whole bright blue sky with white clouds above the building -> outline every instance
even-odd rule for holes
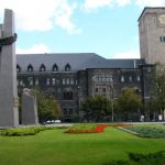
[[[97,53],[139,58],[138,19],[165,0],[0,0],[15,13],[16,53]]]

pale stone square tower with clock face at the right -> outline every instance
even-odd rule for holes
[[[141,58],[165,63],[165,8],[145,8],[139,19]]]

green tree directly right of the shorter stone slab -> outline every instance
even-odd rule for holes
[[[40,88],[35,88],[35,91],[40,122],[61,118],[61,107],[55,98],[45,95],[45,92]]]

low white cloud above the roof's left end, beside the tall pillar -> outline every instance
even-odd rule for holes
[[[37,54],[37,53],[51,53],[51,51],[45,44],[35,44],[30,48],[16,47],[16,54]]]

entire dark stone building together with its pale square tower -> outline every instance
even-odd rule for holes
[[[59,101],[66,121],[81,116],[80,102],[88,96],[116,99],[124,88],[134,88],[145,102],[153,64],[165,62],[165,8],[145,8],[139,28],[141,59],[106,59],[95,53],[18,55],[19,95],[40,86]]]

